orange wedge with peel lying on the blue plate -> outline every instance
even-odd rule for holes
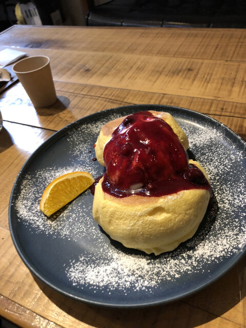
[[[94,182],[88,172],[71,172],[59,176],[45,189],[40,201],[40,210],[50,216],[87,190]]]

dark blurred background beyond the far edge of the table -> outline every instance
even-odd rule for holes
[[[0,0],[0,31],[15,24],[245,28],[246,0]]]

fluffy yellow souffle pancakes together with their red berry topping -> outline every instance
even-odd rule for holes
[[[106,173],[95,186],[92,212],[112,239],[159,255],[195,234],[211,187],[188,147],[169,113],[138,112],[101,129],[95,152]]]

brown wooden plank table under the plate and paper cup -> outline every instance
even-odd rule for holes
[[[246,327],[245,257],[222,278],[175,303],[95,308],[49,289],[26,268],[8,226],[10,192],[30,154],[88,114],[165,104],[207,114],[246,138],[246,31],[236,29],[14,26],[0,50],[48,55],[58,99],[35,109],[22,85],[0,95],[0,315],[22,327]]]

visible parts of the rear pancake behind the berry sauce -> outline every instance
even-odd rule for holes
[[[156,112],[156,111],[149,111],[153,116],[159,117],[167,122],[167,124],[170,125],[170,127],[173,129],[173,132],[176,133],[176,135],[179,138],[179,141],[185,147],[187,150],[189,147],[189,141],[187,138],[187,135],[185,132],[180,128],[176,120],[173,118],[173,116],[166,112]],[[107,142],[111,139],[111,135],[114,132],[114,130],[121,124],[122,121],[124,121],[126,116],[116,118],[112,121],[109,121],[103,128],[101,128],[99,136],[95,143],[95,154],[98,162],[100,165],[105,166],[104,163],[104,147],[107,144]]]

